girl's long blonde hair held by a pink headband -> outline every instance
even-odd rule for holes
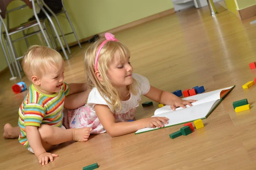
[[[84,53],[84,71],[85,78],[87,80],[88,88],[96,87],[101,96],[112,105],[113,110],[122,108],[120,93],[112,85],[111,80],[108,79],[107,71],[109,64],[113,61],[115,54],[119,56],[121,62],[127,61],[130,57],[130,51],[128,48],[120,42],[108,41],[103,45],[98,59],[98,70],[102,76],[102,81],[97,79],[95,74],[95,58],[98,51],[99,45],[106,40],[105,38],[99,39],[94,42]],[[128,85],[128,90],[132,94],[137,94],[136,90],[137,82],[133,79],[131,85]],[[108,100],[108,99],[109,100]]]

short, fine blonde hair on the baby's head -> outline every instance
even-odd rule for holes
[[[42,77],[49,66],[60,69],[63,61],[61,54],[54,49],[41,45],[32,45],[22,60],[22,68],[26,76],[31,79],[32,76]]]

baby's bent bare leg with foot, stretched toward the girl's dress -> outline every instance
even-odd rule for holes
[[[85,142],[88,140],[92,128],[62,129],[60,127],[41,125],[38,131],[41,136],[42,144],[44,148],[47,149],[50,145],[61,144],[70,140]]]

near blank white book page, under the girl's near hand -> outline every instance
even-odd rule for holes
[[[191,122],[193,120],[205,118],[205,116],[207,116],[207,114],[212,109],[212,107],[217,105],[217,103],[219,101],[220,101],[220,99],[202,103],[201,105],[195,105],[192,107],[188,106],[186,109],[180,109],[177,111],[169,111],[166,113],[158,114],[157,116],[169,118],[169,120],[167,121],[168,124],[164,125],[165,127],[177,125],[177,124],[180,124],[183,122]],[[154,115],[152,117],[156,117],[156,115]],[[142,133],[142,132],[156,130],[156,129],[159,129],[159,128],[158,127],[143,128],[143,129],[137,130],[136,133]]]

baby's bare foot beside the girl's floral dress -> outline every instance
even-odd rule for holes
[[[73,140],[79,142],[87,141],[92,130],[93,129],[91,127],[73,129]]]

